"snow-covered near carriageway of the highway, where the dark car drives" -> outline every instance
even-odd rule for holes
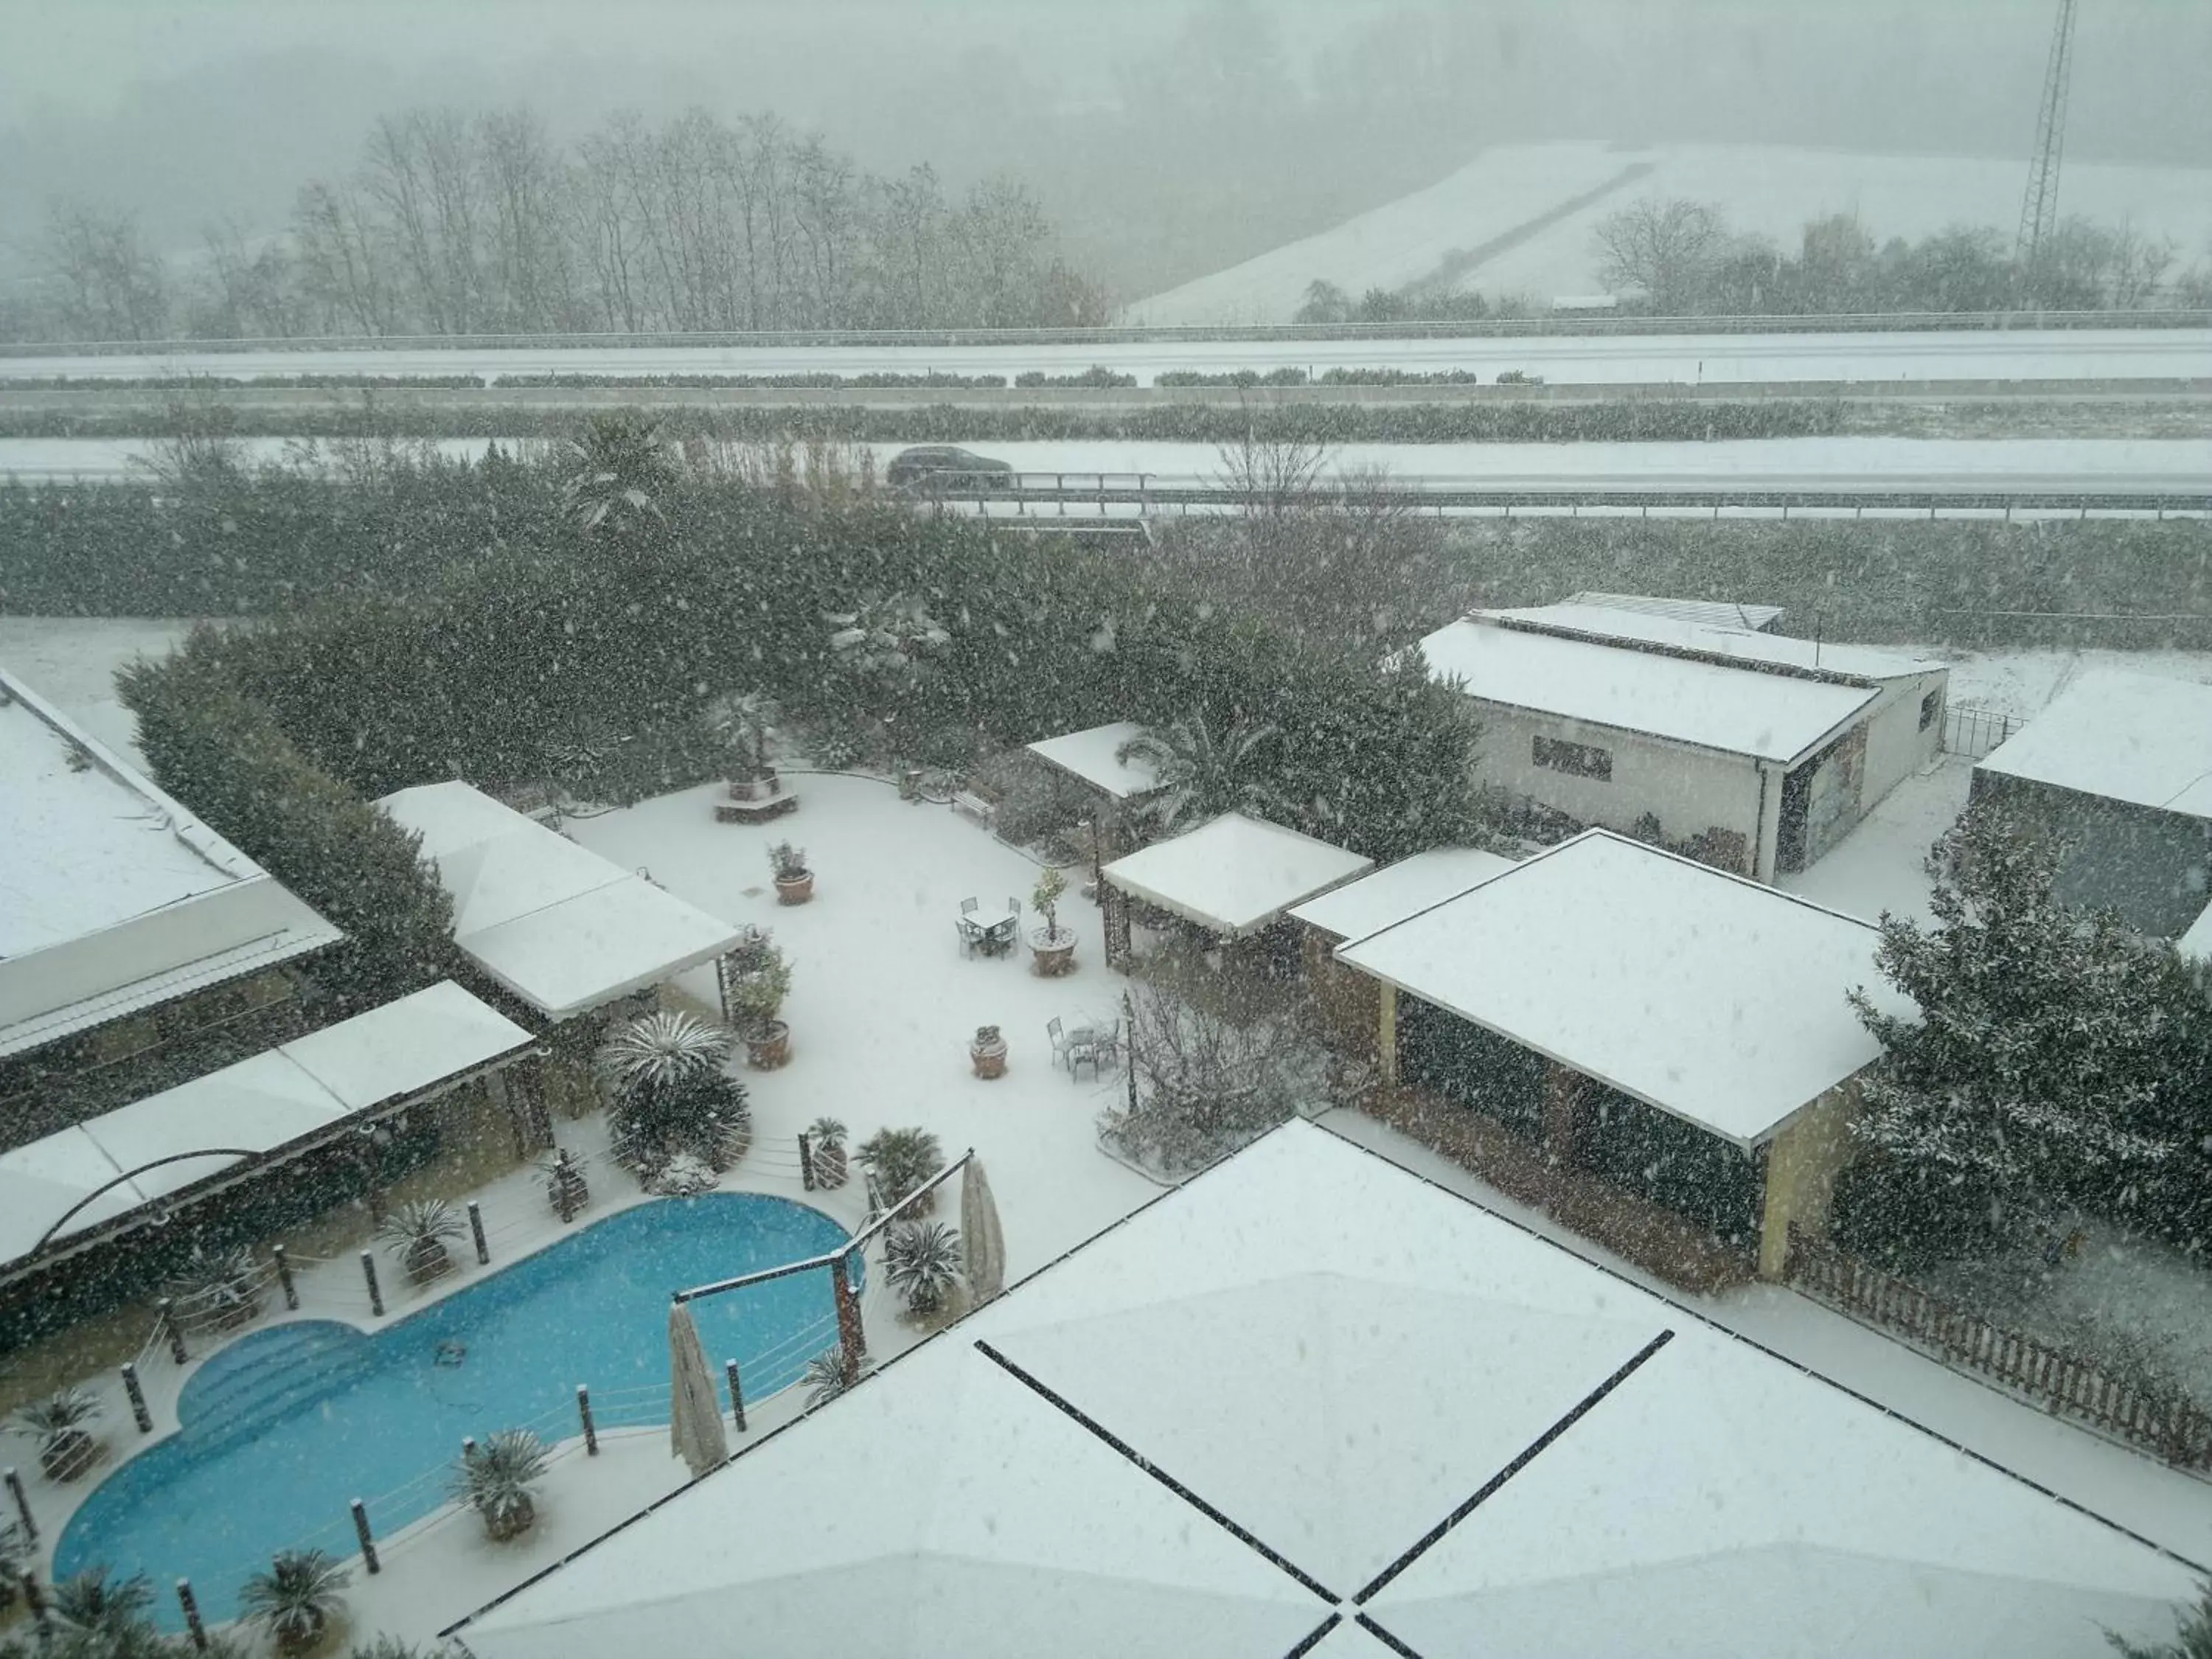
[[[442,438],[445,456],[480,456],[487,438]],[[524,440],[500,440],[509,451]],[[150,438],[7,438],[0,473],[18,478],[150,478]],[[257,462],[292,440],[243,438]],[[869,445],[878,476],[907,445]],[[1144,473],[1159,484],[1214,484],[1221,449],[1186,442],[982,442],[978,453],[1022,473]],[[2081,491],[2203,493],[2205,438],[1743,438],[1723,442],[1336,445],[1336,473],[1387,471],[1400,484],[1500,489],[1825,489],[1825,491]]]

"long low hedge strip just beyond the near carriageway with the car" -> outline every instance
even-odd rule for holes
[[[361,409],[226,409],[239,438],[358,438]],[[1843,403],[1790,398],[1705,403],[1632,398],[1621,403],[1307,403],[1243,409],[1221,403],[1135,407],[668,407],[653,411],[670,438],[761,442],[1232,442],[1248,431],[1325,445],[1433,442],[1708,442],[1723,438],[1832,438],[1849,431]],[[392,438],[562,438],[575,414],[484,405],[425,409],[378,405],[374,431]],[[0,438],[139,438],[164,431],[159,411],[71,414],[0,409]]]

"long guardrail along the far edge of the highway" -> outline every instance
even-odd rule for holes
[[[159,356],[164,352],[456,352],[608,347],[832,347],[832,345],[1148,345],[1159,341],[1451,341],[1566,334],[1876,334],[2081,327],[2212,327],[2208,310],[2170,312],[1845,312],[1832,316],[1542,316],[1433,319],[1416,323],[1110,323],[1102,327],[759,330],[615,334],[316,334],[241,341],[9,341],[4,356]]]

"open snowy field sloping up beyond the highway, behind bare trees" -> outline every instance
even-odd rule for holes
[[[1537,303],[1599,294],[1593,226],[1650,195],[1708,201],[1734,230],[1770,237],[1783,250],[1796,248],[1807,219],[1832,212],[1856,212],[1878,241],[1920,239],[1953,223],[2008,234],[2024,177],[2017,159],[1701,144],[1506,146],[1318,237],[1137,301],[1130,321],[1287,323],[1316,279],[1358,296],[1438,276],[1447,259],[1464,265],[1455,285],[1484,294]],[[2068,164],[2059,210],[2172,237],[2188,265],[2212,239],[2212,168]]]

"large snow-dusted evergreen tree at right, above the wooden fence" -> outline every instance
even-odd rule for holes
[[[2177,1157],[2212,1015],[2172,947],[2053,898],[2057,856],[1989,807],[1936,843],[1936,925],[1885,916],[1876,953],[1920,1018],[1851,995],[1889,1051],[1860,1133],[2000,1206],[2124,1212]]]

